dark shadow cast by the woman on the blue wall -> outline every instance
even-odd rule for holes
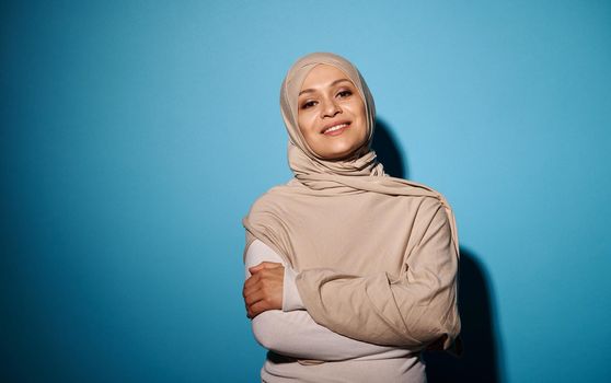
[[[408,178],[408,167],[395,142],[390,127],[378,118],[372,142],[378,160],[388,174]],[[460,256],[459,310],[463,353],[457,358],[448,352],[425,352],[428,382],[500,382],[496,326],[486,274],[472,251],[461,247]]]

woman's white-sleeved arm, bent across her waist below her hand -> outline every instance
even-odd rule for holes
[[[285,266],[284,311],[268,310],[252,321],[255,339],[266,349],[292,358],[324,361],[397,358],[410,353],[406,349],[355,340],[316,324],[307,311],[296,310],[302,305],[295,286],[295,276],[291,276],[295,271],[269,246],[258,240],[246,251],[246,279],[251,277],[249,268],[262,262],[280,263]]]

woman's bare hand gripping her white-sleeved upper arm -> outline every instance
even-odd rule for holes
[[[252,320],[267,310],[283,309],[285,267],[275,262],[262,262],[249,268],[251,277],[244,282],[242,295],[247,316]]]

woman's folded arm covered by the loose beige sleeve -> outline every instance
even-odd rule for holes
[[[297,276],[303,304],[316,323],[378,345],[452,345],[460,332],[458,254],[443,207],[429,202],[423,208],[419,213],[433,219],[401,275],[354,276],[315,268]]]

